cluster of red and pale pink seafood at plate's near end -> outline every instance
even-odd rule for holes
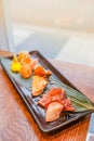
[[[66,97],[66,91],[56,87],[45,93],[38,104],[45,108],[46,121],[56,120],[61,116],[62,111],[75,111],[70,99]]]

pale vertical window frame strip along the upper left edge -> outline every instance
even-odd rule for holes
[[[14,51],[9,1],[0,0],[0,49]]]

